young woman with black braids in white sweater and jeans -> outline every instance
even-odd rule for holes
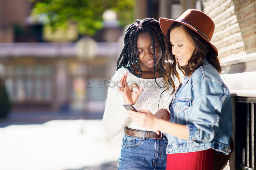
[[[157,20],[136,20],[127,29],[124,48],[109,84],[103,116],[103,128],[109,137],[121,131],[125,133],[119,169],[166,167],[165,135],[139,126],[122,106],[124,103],[132,104],[138,110],[146,109],[153,113],[168,108],[172,95],[166,91],[162,77],[164,50],[164,35]],[[156,113],[155,116],[169,119],[169,113]]]

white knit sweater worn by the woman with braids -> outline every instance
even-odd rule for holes
[[[169,91],[167,91],[166,88],[159,88],[155,82],[155,79],[138,78],[131,74],[126,68],[122,67],[118,69],[109,84],[105,111],[102,121],[106,135],[111,138],[116,136],[120,131],[123,131],[125,125],[132,129],[153,131],[153,129],[141,128],[128,116],[128,111],[122,106],[124,104],[124,98],[123,95],[118,91],[118,86],[119,81],[125,74],[125,72],[128,72],[128,84],[132,84],[133,82],[135,82],[138,84],[139,87],[143,87],[143,92],[140,94],[138,100],[133,105],[136,110],[149,110],[153,114],[155,114],[155,112],[161,108],[166,108],[167,110],[169,110],[169,102],[173,97],[173,95],[169,95],[172,92],[172,87],[169,89]],[[164,87],[162,77],[157,78],[156,81],[160,87]],[[177,80],[175,83],[178,83]],[[135,91],[136,88],[134,88],[133,90]]]

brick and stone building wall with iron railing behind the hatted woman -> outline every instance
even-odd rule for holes
[[[235,150],[225,169],[255,169],[256,1],[206,0],[202,10],[215,23],[211,42],[232,94]]]

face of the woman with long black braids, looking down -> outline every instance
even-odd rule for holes
[[[158,38],[154,32],[155,41],[155,54],[156,54],[156,70],[159,69],[159,60],[162,56],[162,49]],[[153,45],[152,39],[148,32],[143,32],[138,35],[137,39],[137,51],[138,51],[138,59],[140,63],[140,67],[142,71],[153,71],[154,60],[153,60]]]

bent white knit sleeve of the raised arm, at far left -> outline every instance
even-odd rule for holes
[[[124,104],[123,96],[118,91],[119,81],[125,72],[127,70],[124,68],[118,69],[108,87],[102,125],[106,135],[111,138],[124,129],[129,119],[127,110],[122,106]]]

